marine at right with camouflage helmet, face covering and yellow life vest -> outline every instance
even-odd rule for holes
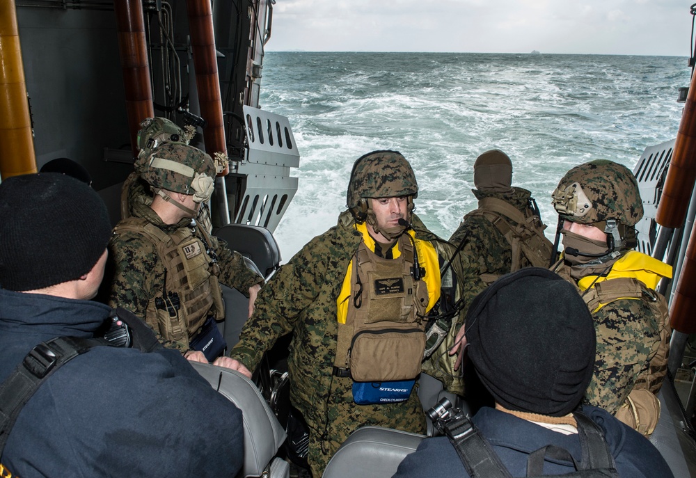
[[[665,298],[655,289],[661,278],[672,277],[672,267],[632,250],[643,208],[638,183],[625,166],[597,160],[572,168],[553,192],[553,206],[563,221],[565,249],[552,269],[578,287],[596,328],[596,363],[585,401],[615,414],[631,406],[629,394],[660,389],[671,330]],[[646,423],[628,424],[651,433]]]

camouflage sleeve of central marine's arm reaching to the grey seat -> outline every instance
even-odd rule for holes
[[[322,288],[331,287],[338,274],[345,275],[348,260],[331,257],[331,241],[315,237],[287,264],[278,269],[271,280],[261,288],[254,313],[244,324],[239,342],[230,356],[255,370],[265,351],[269,350],[286,333],[289,333],[302,317],[309,316],[306,308],[320,309],[321,320],[334,320],[335,296],[322,294]],[[341,278],[342,280],[342,278]],[[315,313],[311,314],[315,317]],[[307,317],[307,321],[310,318]]]

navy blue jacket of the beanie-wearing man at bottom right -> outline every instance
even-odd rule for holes
[[[672,477],[670,467],[658,449],[637,431],[626,427],[601,408],[583,406],[583,411],[603,429],[609,450],[621,477]],[[567,449],[580,461],[577,435],[564,435],[493,408],[481,408],[472,421],[493,445],[513,477],[527,476],[527,459],[531,452],[546,445]],[[560,475],[574,471],[569,462],[546,461],[544,473]],[[406,456],[395,478],[468,477],[450,440],[440,436],[422,440],[416,452]]]

